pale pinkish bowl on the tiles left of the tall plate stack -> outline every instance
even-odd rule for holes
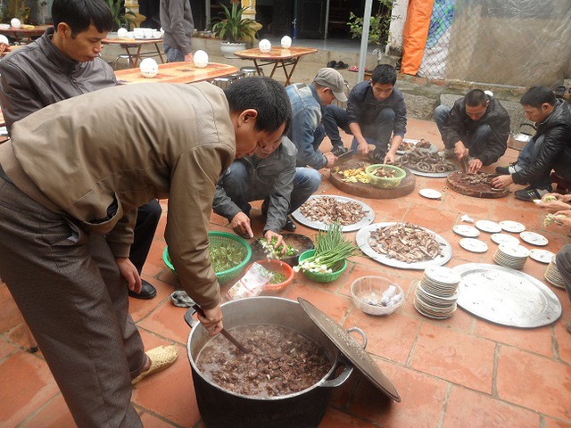
[[[404,302],[398,284],[383,276],[361,276],[351,284],[351,297],[357,308],[369,315],[389,315]]]

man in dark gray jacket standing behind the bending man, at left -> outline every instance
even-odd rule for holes
[[[103,0],[54,0],[52,17],[53,29],[0,62],[0,103],[8,130],[46,105],[117,85],[112,68],[99,58],[101,41],[113,25],[109,6]],[[156,200],[139,207],[129,255],[139,274],[160,218]],[[156,289],[142,281],[141,292],[129,295],[152,299]]]

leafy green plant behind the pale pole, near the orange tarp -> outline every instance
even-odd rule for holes
[[[393,0],[379,0],[378,11],[371,16],[368,29],[368,44],[375,45],[373,54],[377,55],[377,64],[381,63],[386,42],[389,38],[389,27],[391,21],[398,17],[392,17]],[[363,35],[363,18],[358,17],[353,12],[349,14],[349,31],[352,38],[362,37]]]

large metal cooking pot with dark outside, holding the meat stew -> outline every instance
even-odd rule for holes
[[[240,325],[273,324],[306,334],[325,350],[331,368],[319,383],[304,391],[285,396],[259,399],[223,390],[206,379],[196,367],[198,353],[210,337],[203,325],[194,324],[188,336],[186,350],[192,368],[196,401],[204,424],[208,428],[318,426],[327,410],[332,388],[343,384],[353,369],[353,366],[341,356],[335,344],[327,339],[327,336],[303,311],[301,305],[293,300],[278,297],[234,300],[223,304],[222,311],[224,326],[227,329]],[[190,321],[188,313],[185,318],[187,322]],[[366,341],[366,338],[363,337],[363,340]],[[228,346],[233,345],[228,342]],[[344,366],[343,372],[335,377],[339,366]]]

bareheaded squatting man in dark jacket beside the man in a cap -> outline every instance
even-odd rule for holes
[[[375,161],[394,163],[394,155],[407,131],[407,107],[401,91],[394,87],[395,83],[396,70],[388,64],[377,65],[370,81],[353,87],[347,111],[334,104],[328,105],[322,121],[331,144],[337,147],[341,141],[339,125],[354,137],[353,152],[368,154],[371,144],[375,146],[371,155]],[[333,153],[335,156],[342,154]]]

